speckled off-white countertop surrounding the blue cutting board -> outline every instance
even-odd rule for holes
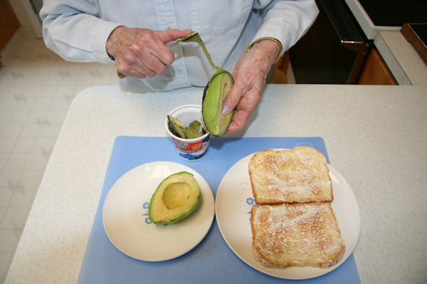
[[[164,117],[202,89],[92,87],[78,94],[53,149],[6,283],[75,283],[116,136],[166,136]],[[274,107],[273,107],[274,106]],[[233,136],[320,136],[361,214],[362,283],[427,281],[427,94],[422,86],[268,85]],[[224,243],[224,245],[226,245]]]

